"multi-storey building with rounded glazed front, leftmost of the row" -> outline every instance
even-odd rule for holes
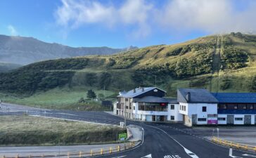
[[[140,87],[117,96],[114,113],[141,121],[181,121],[177,99],[164,98],[165,91],[157,87]],[[176,108],[175,108],[176,106]]]

